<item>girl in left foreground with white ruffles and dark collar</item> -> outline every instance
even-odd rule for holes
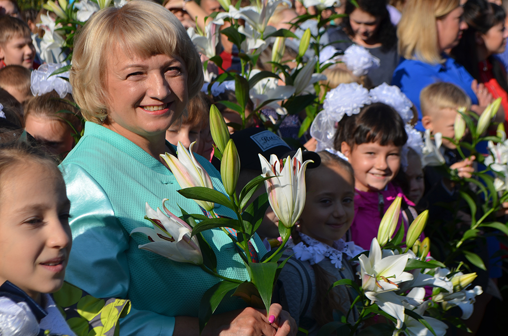
[[[48,295],[63,284],[72,242],[61,173],[29,145],[0,145],[0,181],[0,334],[74,335]]]

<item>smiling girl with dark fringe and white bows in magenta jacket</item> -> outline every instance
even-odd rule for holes
[[[406,141],[402,118],[383,103],[365,104],[359,113],[344,116],[337,124],[335,150],[347,157],[355,172],[355,220],[348,239],[364,249],[377,236],[392,201],[403,196],[402,189],[391,182],[399,171]],[[414,205],[404,200],[404,205]]]

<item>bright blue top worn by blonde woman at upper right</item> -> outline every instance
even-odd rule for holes
[[[425,131],[422,126],[422,110],[420,109],[420,92],[432,83],[448,82],[457,85],[471,98],[471,104],[478,104],[478,98],[471,89],[473,77],[455,59],[443,55],[442,64],[428,64],[420,60],[400,58],[393,73],[392,85],[411,100],[418,110],[418,123],[415,128]]]

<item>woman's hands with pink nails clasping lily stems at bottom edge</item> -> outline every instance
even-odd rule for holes
[[[250,307],[213,315],[202,336],[295,336],[297,330],[295,319],[280,305],[273,304],[269,316],[265,310]],[[198,319],[177,316],[173,334],[198,336]]]

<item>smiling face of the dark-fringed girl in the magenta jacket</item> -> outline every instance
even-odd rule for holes
[[[355,188],[379,191],[397,175],[400,168],[399,146],[382,146],[376,142],[354,145],[342,143],[341,152],[347,156],[355,171]]]

